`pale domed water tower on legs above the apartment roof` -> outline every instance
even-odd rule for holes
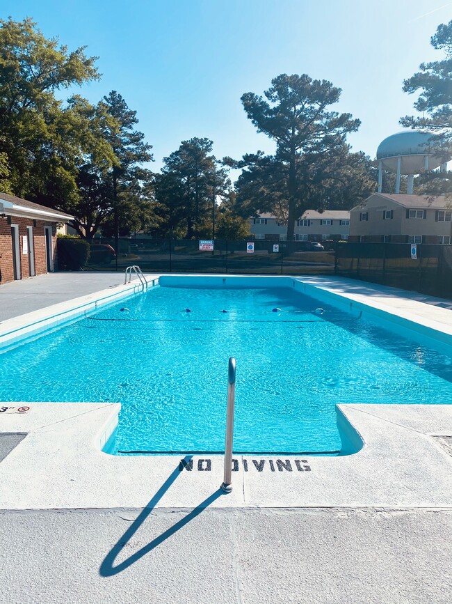
[[[401,192],[401,174],[407,175],[407,193],[413,192],[414,174],[447,170],[450,157],[433,153],[435,134],[420,130],[405,130],[387,137],[377,149],[378,192],[382,192],[383,169],[396,172],[396,193]]]

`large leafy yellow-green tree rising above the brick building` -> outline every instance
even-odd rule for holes
[[[15,194],[42,201],[43,183],[52,182],[65,194],[76,191],[71,158],[85,150],[74,127],[80,116],[63,110],[55,93],[98,79],[95,60],[85,47],[69,52],[46,39],[29,18],[0,20],[0,153]]]

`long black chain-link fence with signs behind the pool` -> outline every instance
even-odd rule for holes
[[[252,243],[252,249],[249,244]],[[198,240],[97,239],[88,270],[118,270],[139,265],[143,272],[342,275],[439,297],[452,297],[452,246],[408,243],[336,243],[316,249],[305,241],[215,240],[200,249]]]

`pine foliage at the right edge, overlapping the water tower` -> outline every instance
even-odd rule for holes
[[[452,156],[452,21],[439,25],[430,43],[433,48],[444,50],[445,56],[439,61],[421,63],[419,72],[403,82],[404,92],[419,92],[414,109],[421,111],[422,116],[405,116],[401,124],[435,132],[430,146],[446,161]],[[452,172],[425,173],[417,179],[417,185],[419,192],[426,186],[430,192],[450,192]]]

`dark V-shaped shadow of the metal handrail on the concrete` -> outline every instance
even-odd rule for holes
[[[188,463],[188,461],[191,460],[192,457],[193,456],[186,456],[184,458],[184,462]],[[196,516],[199,516],[200,513],[204,509],[206,509],[212,502],[214,502],[216,499],[218,499],[218,497],[220,497],[221,495],[224,495],[223,490],[218,488],[218,490],[216,490],[214,493],[209,495],[209,497],[207,497],[207,499],[205,499],[198,506],[196,506],[190,513],[188,513],[186,516],[184,516],[184,518],[181,518],[181,520],[176,522],[175,525],[173,525],[169,529],[166,529],[166,531],[164,531],[161,535],[159,535],[155,539],[152,539],[152,541],[150,541],[150,543],[147,543],[147,545],[145,545],[143,548],[138,550],[138,552],[135,552],[129,558],[127,558],[126,560],[124,560],[123,562],[118,564],[117,566],[113,566],[115,563],[115,559],[118,557],[118,555],[120,554],[122,549],[125,547],[125,545],[127,545],[129,540],[131,539],[131,537],[133,537],[134,534],[138,531],[140,526],[143,525],[143,522],[145,522],[145,520],[150,515],[150,513],[152,513],[156,504],[159,502],[159,500],[161,500],[161,497],[163,497],[163,495],[166,493],[168,488],[177,479],[179,474],[181,474],[181,472],[179,470],[179,463],[178,463],[177,467],[175,467],[175,470],[173,470],[171,472],[170,476],[162,484],[162,486],[156,492],[154,497],[152,497],[152,499],[147,504],[147,506],[145,508],[143,508],[143,510],[140,512],[140,514],[137,516],[137,518],[134,520],[134,522],[132,522],[132,524],[127,529],[127,531],[122,535],[122,537],[120,537],[119,541],[117,541],[117,543],[115,543],[115,545],[113,545],[113,548],[111,548],[111,550],[108,552],[106,557],[102,560],[102,564],[99,567],[99,575],[101,575],[102,577],[113,577],[113,575],[117,575],[118,573],[121,573],[122,571],[124,571],[126,568],[129,568],[129,566],[131,566],[132,564],[137,562],[140,558],[142,558],[149,552],[152,552],[152,550],[154,550],[156,547],[161,545],[161,543],[163,543],[163,541],[166,541],[166,539],[169,539],[170,536],[172,536],[177,531],[179,531],[179,529],[181,529],[182,527],[187,525],[188,522],[191,522],[191,520],[193,520],[193,518],[196,518]]]

